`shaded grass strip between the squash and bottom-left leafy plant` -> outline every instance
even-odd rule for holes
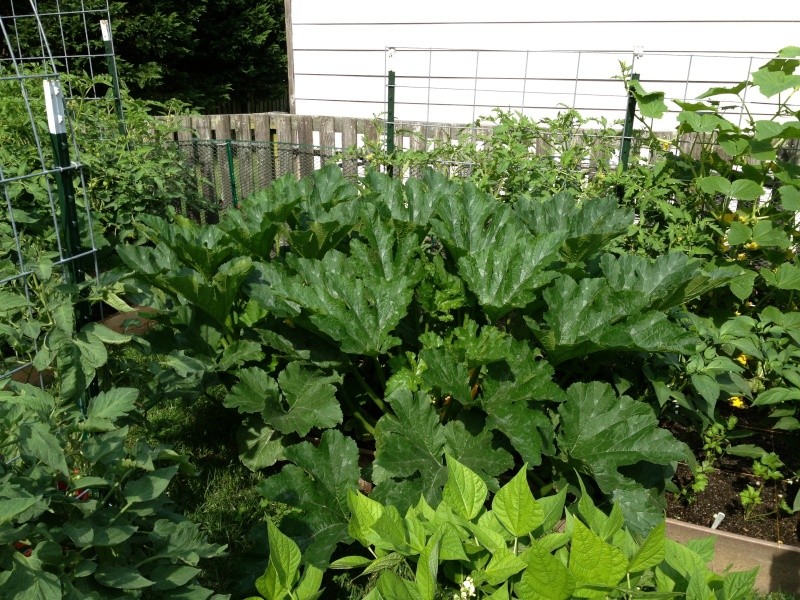
[[[147,366],[154,359],[135,347],[119,349],[114,357],[115,385],[146,388]],[[146,437],[186,455],[193,474],[179,473],[167,490],[179,512],[198,523],[209,541],[225,544],[227,553],[201,563],[200,583],[233,598],[255,593],[255,579],[267,560],[265,518],[280,523],[290,510],[265,500],[256,485],[265,474],[253,473],[239,460],[236,430],[241,416],[222,405],[226,390],[216,386],[193,397],[165,400],[151,407],[131,428],[135,441]]]

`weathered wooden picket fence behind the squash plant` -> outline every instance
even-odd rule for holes
[[[238,200],[266,188],[286,174],[302,177],[319,169],[332,157],[384,137],[385,122],[381,119],[358,119],[290,115],[286,113],[252,113],[230,115],[181,115],[170,117],[176,126],[175,142],[183,152],[187,165],[194,169],[198,189],[210,203],[222,207],[236,205]],[[431,144],[456,139],[491,135],[491,127],[430,124],[412,121],[395,123],[395,148],[425,150]],[[656,134],[661,140],[674,139],[675,132]],[[596,143],[621,143],[621,133],[605,131]],[[636,134],[634,133],[634,145]],[[679,149],[695,154],[699,148],[694,137],[681,139]],[[544,140],[536,145],[540,156],[552,152]],[[634,156],[639,149],[634,147]],[[353,155],[337,159],[346,175],[363,173],[361,160]],[[451,173],[463,173],[465,165],[456,165]],[[469,171],[469,165],[466,165]]]

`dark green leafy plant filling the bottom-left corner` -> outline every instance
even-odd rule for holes
[[[175,513],[167,486],[186,457],[131,440],[136,390],[81,411],[30,385],[0,390],[0,595],[208,598],[201,558],[224,548]]]

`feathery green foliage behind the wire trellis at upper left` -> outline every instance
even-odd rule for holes
[[[92,241],[100,248],[113,248],[119,242],[135,240],[135,225],[141,214],[168,216],[171,210],[187,212],[205,208],[194,173],[185,168],[178,149],[172,144],[174,127],[168,120],[153,116],[157,112],[169,114],[185,110],[185,106],[135,100],[123,87],[121,101],[125,122],[122,127],[110,95],[95,97],[103,89],[110,94],[108,77],[68,75],[62,79],[64,85],[69,80],[76,94],[68,99],[66,108],[82,165],[81,173],[75,172],[74,185],[80,205],[78,217],[84,248],[91,247]],[[25,87],[24,98],[20,86]],[[53,166],[41,79],[18,83],[4,78],[0,80],[0,94],[3,98],[0,102],[0,138],[3,139],[0,165],[4,178],[23,177],[4,187],[14,211],[23,257],[26,262],[35,263],[41,253],[56,249],[52,214],[55,209],[51,208],[45,177],[24,177]],[[85,208],[82,206],[84,192],[90,205],[92,232],[88,230],[86,211],[82,210]],[[8,258],[13,263],[13,254],[6,252],[10,253],[16,245],[10,223],[5,220],[0,224],[0,241],[5,242],[0,265]],[[103,251],[102,255],[105,258],[114,256],[110,251]],[[102,259],[101,266],[106,266]]]

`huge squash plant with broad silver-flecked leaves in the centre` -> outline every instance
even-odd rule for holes
[[[621,252],[633,215],[613,198],[501,203],[434,172],[356,185],[331,165],[218,226],[143,222],[153,245],[119,254],[163,325],[153,397],[164,373],[227,386],[244,463],[291,463],[269,493],[305,509],[291,533],[317,566],[347,536],[356,444],[398,510],[439,501],[449,454],[492,490],[523,462],[545,488],[577,472],[648,531],[689,453],[640,401],[645,367],[691,354],[686,303],[740,272]]]

